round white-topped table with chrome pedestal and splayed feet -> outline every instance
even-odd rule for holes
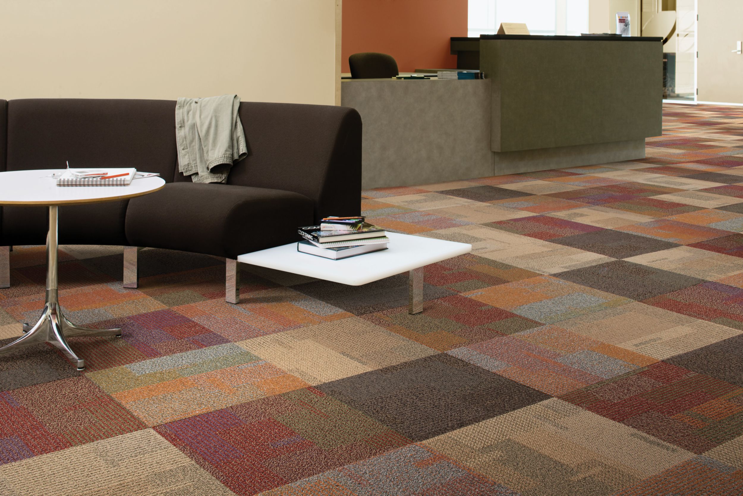
[[[56,180],[49,177],[55,172],[63,172],[63,169],[0,172],[0,205],[49,207],[44,311],[39,322],[33,326],[24,324],[23,336],[1,347],[0,354],[19,347],[48,342],[62,350],[68,359],[77,364],[77,370],[82,371],[85,368],[85,360],[80,359],[71,350],[65,336],[121,336],[121,329],[87,329],[73,324],[62,313],[57,291],[57,207],[146,195],[162,189],[165,181],[160,177],[146,177],[132,180],[129,186],[56,186]],[[94,227],[91,226],[91,229]]]

